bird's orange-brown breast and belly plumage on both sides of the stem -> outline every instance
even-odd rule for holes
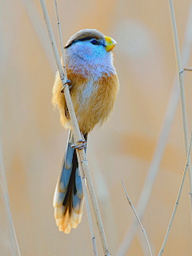
[[[113,110],[119,86],[117,74],[110,74],[110,76],[103,74],[98,81],[94,81],[94,78],[83,78],[79,74],[74,74],[73,70],[67,70],[67,75],[73,85],[70,95],[79,128],[83,134],[89,133],[94,126],[105,122]],[[61,93],[61,88],[62,82],[57,73],[52,102],[60,110],[62,126],[71,128],[66,100],[64,94]]]

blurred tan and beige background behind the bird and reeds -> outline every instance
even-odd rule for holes
[[[174,1],[183,66],[192,65],[190,4],[187,0]],[[46,1],[46,5],[59,46],[54,1]],[[133,211],[126,200],[122,178],[134,206],[140,202],[140,208],[145,208],[142,224],[153,254],[157,255],[186,162],[168,1],[58,0],[58,11],[63,42],[85,28],[100,30],[118,42],[114,66],[121,90],[110,120],[90,134],[88,161],[110,253],[147,255],[142,230],[139,228],[135,235],[130,232]],[[54,222],[52,199],[68,136],[60,126],[58,111],[50,103],[56,71],[38,0],[1,0],[1,168],[3,158],[21,254],[93,255],[86,207],[82,223],[68,235],[59,232]],[[189,130],[191,79],[192,73],[186,72]],[[154,154],[159,156],[157,161]],[[152,180],[147,178],[149,173],[153,174]],[[4,186],[6,189],[5,183]],[[189,190],[186,177],[165,256],[192,254]],[[13,251],[8,214],[0,191],[0,255],[9,256]],[[102,255],[95,220],[94,231],[98,254]],[[122,242],[126,245],[123,252]]]

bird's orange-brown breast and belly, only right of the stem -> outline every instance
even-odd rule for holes
[[[102,73],[98,77],[82,76],[74,72],[68,74],[73,85],[70,95],[78,125],[86,133],[109,116],[118,90],[117,75]]]

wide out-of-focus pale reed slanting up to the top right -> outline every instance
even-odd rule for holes
[[[191,45],[192,45],[191,24],[192,24],[192,3],[190,2],[189,17],[186,24],[186,32],[184,36],[184,43],[182,46],[182,60],[183,60],[184,66],[186,66],[190,60],[190,51],[191,51]],[[174,119],[175,111],[178,106],[179,92],[178,92],[177,77],[178,76],[176,76],[174,79],[174,86],[170,94],[169,102],[167,103],[166,114],[162,122],[161,131],[158,135],[158,142],[154,150],[154,156],[150,163],[149,170],[146,174],[146,180],[142,188],[141,196],[138,200],[137,213],[140,218],[142,218],[143,214],[145,213],[147,203],[149,202],[150,193],[154,186],[155,178],[157,177],[157,174],[158,174],[158,168],[162,161],[162,156],[166,148],[166,141],[170,133],[170,128]],[[129,249],[130,244],[133,241],[134,235],[136,234],[137,230],[138,230],[138,222],[135,218],[132,218],[130,222],[130,226],[126,230],[126,234],[124,235],[124,238],[122,239],[121,244],[118,246],[118,251],[116,252],[115,256],[126,255],[126,251]]]

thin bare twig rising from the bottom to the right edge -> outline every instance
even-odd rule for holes
[[[187,157],[186,157],[186,165],[185,165],[185,168],[184,168],[184,171],[183,171],[183,174],[182,174],[182,182],[181,182],[181,185],[180,185],[179,190],[178,190],[178,197],[177,197],[177,200],[175,202],[174,210],[173,210],[173,213],[172,213],[171,218],[170,218],[170,223],[169,223],[169,226],[168,226],[168,228],[166,230],[166,236],[164,238],[164,241],[162,243],[162,248],[159,251],[158,256],[161,256],[163,251],[164,251],[164,248],[166,246],[166,242],[167,242],[168,236],[170,234],[170,228],[171,228],[172,223],[174,221],[174,215],[176,213],[176,210],[178,209],[178,202],[179,202],[179,199],[180,199],[181,194],[182,194],[182,186],[183,186],[185,178],[186,178],[186,170],[187,170],[187,168],[189,166],[189,161],[190,161],[190,150],[191,150],[191,142],[192,142],[191,138],[192,138],[192,131],[191,131],[191,134],[190,134],[190,146],[189,146]]]

